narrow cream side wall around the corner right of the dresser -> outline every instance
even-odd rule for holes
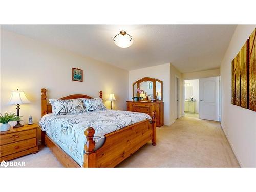
[[[179,79],[179,114],[182,116],[182,74],[173,65],[170,65],[170,124],[174,123],[177,118],[177,99],[176,99],[176,77]]]

